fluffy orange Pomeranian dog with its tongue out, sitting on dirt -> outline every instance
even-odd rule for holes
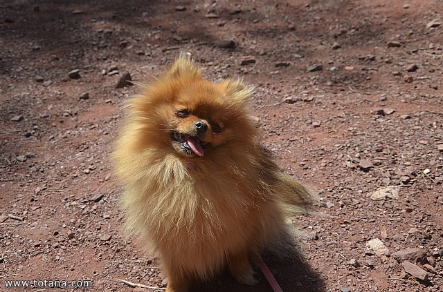
[[[226,265],[254,284],[251,263],[312,196],[257,143],[253,89],[210,82],[183,54],[141,91],[127,104],[113,155],[127,228],[159,255],[168,292],[186,292]]]

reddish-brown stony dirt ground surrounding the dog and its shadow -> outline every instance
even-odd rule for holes
[[[257,88],[263,144],[320,197],[291,218],[300,254],[264,257],[284,291],[442,291],[442,21],[440,0],[1,0],[0,291],[164,286],[123,232],[109,153],[137,93],[120,77],[179,52]],[[193,291],[271,291],[257,278]]]

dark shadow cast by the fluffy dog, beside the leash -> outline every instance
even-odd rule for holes
[[[265,253],[263,260],[284,292],[320,292],[325,291],[325,283],[320,275],[309,266],[300,249],[284,249],[278,255]],[[254,286],[239,284],[228,269],[210,282],[194,284],[190,292],[272,292],[273,289],[264,275],[255,267],[255,278],[259,281]]]

